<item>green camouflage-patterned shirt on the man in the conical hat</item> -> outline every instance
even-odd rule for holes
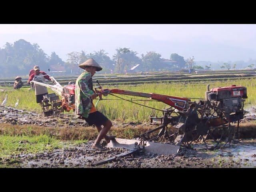
[[[88,118],[92,108],[92,74],[84,71],[76,80],[75,90],[75,114],[76,118],[81,116]]]

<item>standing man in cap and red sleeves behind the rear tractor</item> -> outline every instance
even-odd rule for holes
[[[39,66],[34,66],[35,73],[32,74],[28,79],[28,84],[30,81],[34,80],[37,82],[45,82],[45,80],[51,80],[50,77],[43,71],[40,71]],[[36,102],[41,103],[43,100],[43,96],[48,94],[47,88],[40,85],[34,85],[35,94],[36,94]]]

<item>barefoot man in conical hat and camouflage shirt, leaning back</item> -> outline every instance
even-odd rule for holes
[[[92,100],[97,97],[92,88],[92,76],[94,76],[96,71],[102,70],[102,68],[94,59],[87,60],[86,62],[80,64],[79,67],[84,69],[84,72],[82,72],[82,74],[76,80],[76,118],[82,118],[86,120],[90,126],[96,126],[99,134],[94,144],[92,144],[92,148],[105,151],[107,149],[100,145],[100,141],[105,138],[106,142],[109,143],[110,140],[114,138],[114,136],[107,136],[107,133],[112,126],[112,122],[101,112],[97,111],[92,102]]]

